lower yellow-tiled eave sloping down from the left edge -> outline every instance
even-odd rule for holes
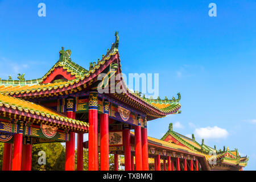
[[[86,122],[67,118],[48,107],[11,96],[3,96],[2,94],[0,94],[0,116],[31,123],[58,126],[61,129],[76,131],[77,133],[85,133],[89,129]]]

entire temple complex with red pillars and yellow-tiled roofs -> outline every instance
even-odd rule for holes
[[[119,36],[101,60],[85,69],[71,60],[71,51],[61,49],[55,65],[42,78],[0,80],[0,142],[4,143],[5,171],[30,171],[32,146],[65,142],[65,170],[83,166],[83,148],[88,148],[88,169],[109,170],[109,154],[124,155],[125,170],[240,170],[247,164],[238,151],[217,151],[170,129],[159,140],[147,136],[147,122],[180,113],[180,94],[171,100],[149,99],[114,80],[123,92],[112,87],[112,78],[122,75],[118,52]],[[104,74],[101,80],[98,76]],[[103,81],[102,81],[103,80]],[[108,92],[100,93],[98,89]],[[125,92],[128,90],[128,92]],[[130,130],[134,130],[131,132]],[[88,141],[83,136],[88,133]],[[209,164],[216,152],[217,164]],[[135,158],[134,158],[135,157]],[[167,162],[166,162],[167,161]],[[135,164],[135,165],[134,165]],[[168,167],[166,166],[168,164]]]

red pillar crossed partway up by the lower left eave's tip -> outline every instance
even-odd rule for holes
[[[71,119],[76,118],[76,113],[74,112],[74,99],[67,98],[67,117]],[[70,139],[66,142],[66,157],[65,157],[65,171],[75,170],[75,133],[70,132]]]

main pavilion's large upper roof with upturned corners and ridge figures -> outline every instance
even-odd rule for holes
[[[90,63],[89,71],[85,68],[82,68],[80,65],[77,65],[73,61],[71,61],[70,55],[71,51],[64,51],[64,48],[60,51],[60,59],[57,61],[55,65],[44,75],[42,78],[37,79],[34,84],[27,84],[27,81],[13,81],[19,82],[19,84],[0,84],[0,93],[4,95],[10,95],[13,97],[19,98],[37,98],[37,97],[49,97],[49,96],[58,96],[69,93],[76,93],[89,87],[93,82],[97,80],[97,75],[100,74],[104,69],[106,69],[110,64],[117,63],[118,65],[118,73],[121,73],[121,64],[119,59],[118,52],[118,44],[119,44],[119,36],[116,32],[115,34],[115,43],[112,44],[112,48],[107,51],[105,56],[102,56],[101,60],[98,60],[96,63]],[[67,72],[71,73],[71,75],[75,76],[74,79],[68,81],[60,81],[55,83],[43,84],[44,80],[51,75],[51,73],[56,68],[63,68]],[[126,86],[126,85],[125,85]],[[178,94],[178,98],[172,98],[172,100],[168,100],[165,98],[164,100],[160,100],[158,97],[157,100],[141,97],[138,93],[127,92],[121,94],[111,94],[112,97],[117,100],[126,100],[130,106],[134,106],[135,109],[142,110],[147,113],[148,120],[154,118],[164,117],[167,114],[176,114],[180,113],[179,109],[181,107],[180,94]]]

